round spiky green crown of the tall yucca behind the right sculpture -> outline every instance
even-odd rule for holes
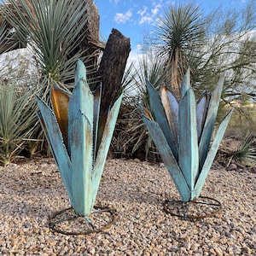
[[[166,57],[173,65],[179,62],[181,67],[184,63],[188,50],[192,50],[195,44],[201,46],[201,38],[204,36],[205,20],[201,18],[199,7],[193,3],[185,5],[170,4],[165,14],[160,18],[158,26],[155,27],[157,42],[160,48],[160,56]],[[176,52],[181,52],[181,60],[175,59]]]

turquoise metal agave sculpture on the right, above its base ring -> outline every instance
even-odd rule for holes
[[[179,102],[165,84],[159,95],[154,86],[147,83],[155,121],[151,113],[140,106],[143,121],[183,201],[193,201],[201,194],[232,114],[231,109],[211,145],[224,79],[218,81],[212,96],[205,93],[196,104],[189,73],[188,70],[183,78]]]

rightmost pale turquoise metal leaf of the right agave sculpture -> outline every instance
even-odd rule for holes
[[[229,124],[230,117],[232,115],[233,109],[230,110],[230,112],[226,115],[222,123],[218,127],[218,131],[216,133],[216,137],[214,138],[212,142],[212,147],[210,148],[207,159],[205,160],[204,165],[202,166],[200,176],[197,179],[197,182],[195,184],[195,197],[199,197],[201,193],[201,189],[207,179],[208,172],[210,171],[210,168],[212,166],[212,162],[215,158],[215,155],[218,151],[219,144],[222,141],[222,138],[224,137],[224,132],[226,131],[226,128]]]

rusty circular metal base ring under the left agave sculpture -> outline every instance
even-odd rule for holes
[[[117,220],[116,211],[106,207],[94,207],[94,209],[95,211],[91,212],[89,217],[78,215],[73,210],[73,207],[69,207],[60,212],[55,212],[49,218],[49,228],[53,232],[69,236],[107,232]],[[107,220],[97,218],[96,215],[102,215],[102,217],[105,218],[107,217]],[[86,226],[84,230],[81,230],[82,225]],[[68,228],[72,230],[67,230]]]

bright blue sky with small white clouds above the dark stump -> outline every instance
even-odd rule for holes
[[[100,30],[107,40],[112,28],[131,38],[131,49],[136,51],[143,42],[143,35],[152,30],[156,19],[169,4],[196,3],[205,13],[218,7],[242,9],[248,0],[95,0],[100,13]]]

